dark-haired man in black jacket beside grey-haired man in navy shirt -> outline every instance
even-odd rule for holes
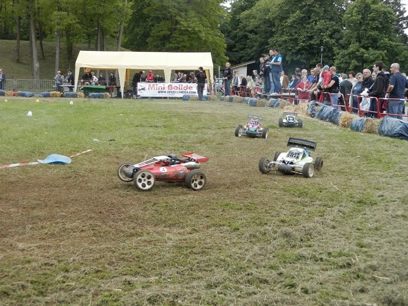
[[[373,71],[377,72],[377,77],[375,79],[374,87],[365,97],[375,97],[376,99],[371,99],[370,108],[368,109],[372,113],[369,113],[369,117],[378,118],[377,110],[379,111],[379,106],[381,106],[382,99],[386,96],[386,90],[388,87],[387,78],[384,72],[382,72],[382,67],[384,64],[382,62],[376,62],[373,66]],[[364,81],[363,81],[364,82]],[[378,106],[378,108],[377,108]]]

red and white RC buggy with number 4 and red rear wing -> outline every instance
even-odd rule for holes
[[[209,159],[195,153],[185,153],[185,159],[175,155],[156,156],[138,164],[123,163],[117,174],[123,182],[133,182],[139,190],[151,189],[156,181],[184,182],[193,190],[200,190],[206,185],[206,175],[199,170],[200,163]]]

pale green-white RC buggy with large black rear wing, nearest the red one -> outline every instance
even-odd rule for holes
[[[273,161],[263,157],[259,161],[259,171],[268,173],[277,170],[286,174],[302,174],[304,177],[313,177],[316,170],[323,167],[323,159],[317,157],[313,160],[311,152],[316,148],[316,142],[289,137],[289,151],[276,152]]]

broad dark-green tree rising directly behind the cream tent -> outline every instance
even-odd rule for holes
[[[134,51],[211,52],[213,61],[226,60],[219,30],[223,0],[140,0],[133,3],[124,46]]]

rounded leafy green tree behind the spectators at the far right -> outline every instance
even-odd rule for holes
[[[377,61],[386,65],[408,64],[407,46],[395,31],[395,12],[380,0],[354,1],[348,6],[343,23],[343,39],[335,57],[340,71],[361,71]]]

